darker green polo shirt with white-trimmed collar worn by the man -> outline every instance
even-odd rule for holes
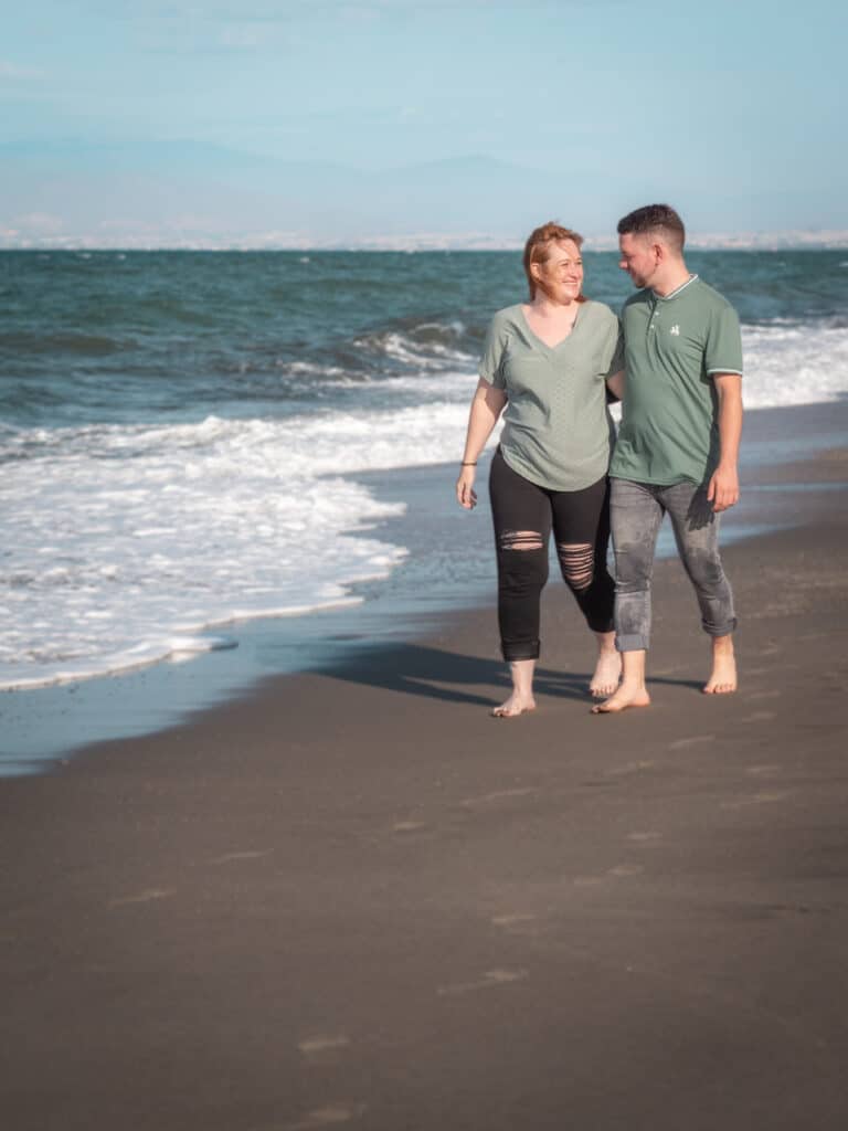
[[[626,382],[609,474],[669,486],[706,483],[719,458],[715,373],[742,375],[739,320],[693,275],[661,299],[650,288],[622,311]]]

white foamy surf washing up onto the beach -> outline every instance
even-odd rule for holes
[[[743,336],[749,407],[845,395],[847,329]],[[210,627],[355,602],[351,586],[405,550],[374,530],[403,499],[379,502],[353,476],[457,459],[476,378],[449,354],[384,380],[380,411],[0,430],[0,688],[182,658],[231,642]]]

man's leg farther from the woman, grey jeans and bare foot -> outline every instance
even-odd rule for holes
[[[703,690],[707,694],[729,694],[736,690],[733,648],[736,614],[718,549],[719,516],[712,510],[706,490],[691,483],[664,489],[661,499],[672,518],[681,560],[698,595],[701,627],[712,642],[712,670]]]

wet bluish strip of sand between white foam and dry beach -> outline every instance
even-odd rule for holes
[[[801,461],[803,475],[823,450],[848,446],[848,400],[746,414],[741,477],[743,499],[724,519],[722,544],[755,537],[795,523],[787,516],[785,497],[793,470]],[[772,461],[782,454],[780,463]],[[491,452],[487,454],[491,458]],[[486,458],[486,466],[487,466]],[[805,463],[806,461],[806,463]],[[479,483],[485,484],[486,466]],[[819,461],[814,478],[819,490],[831,476],[838,489],[841,465]],[[152,734],[180,726],[198,711],[214,709],[231,698],[250,694],[267,679],[321,670],[356,650],[363,640],[391,646],[398,638],[426,638],[460,610],[492,604],[494,560],[490,553],[487,502],[473,516],[452,500],[452,465],[401,468],[357,474],[378,498],[403,499],[407,512],[382,520],[380,537],[406,545],[410,553],[388,578],[351,587],[362,602],[349,607],[313,612],[305,616],[260,618],[228,625],[237,646],[164,661],[135,672],[46,688],[6,691],[0,696],[0,778],[49,770],[92,743]],[[824,477],[824,482],[822,478]],[[794,490],[808,491],[796,484]],[[803,508],[801,508],[803,511]],[[476,523],[469,535],[469,520]],[[485,530],[483,529],[485,527]],[[482,532],[482,533],[481,533]],[[667,524],[660,535],[660,555],[673,555]],[[552,587],[557,588],[555,580]],[[496,646],[493,645],[493,656]],[[73,739],[69,739],[69,735]]]

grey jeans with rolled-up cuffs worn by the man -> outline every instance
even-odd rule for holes
[[[694,483],[657,486],[612,480],[609,517],[615,550],[615,647],[648,648],[651,630],[654,552],[668,511],[677,550],[698,595],[701,627],[709,636],[736,628],[733,593],[718,552],[719,516],[707,489]]]

